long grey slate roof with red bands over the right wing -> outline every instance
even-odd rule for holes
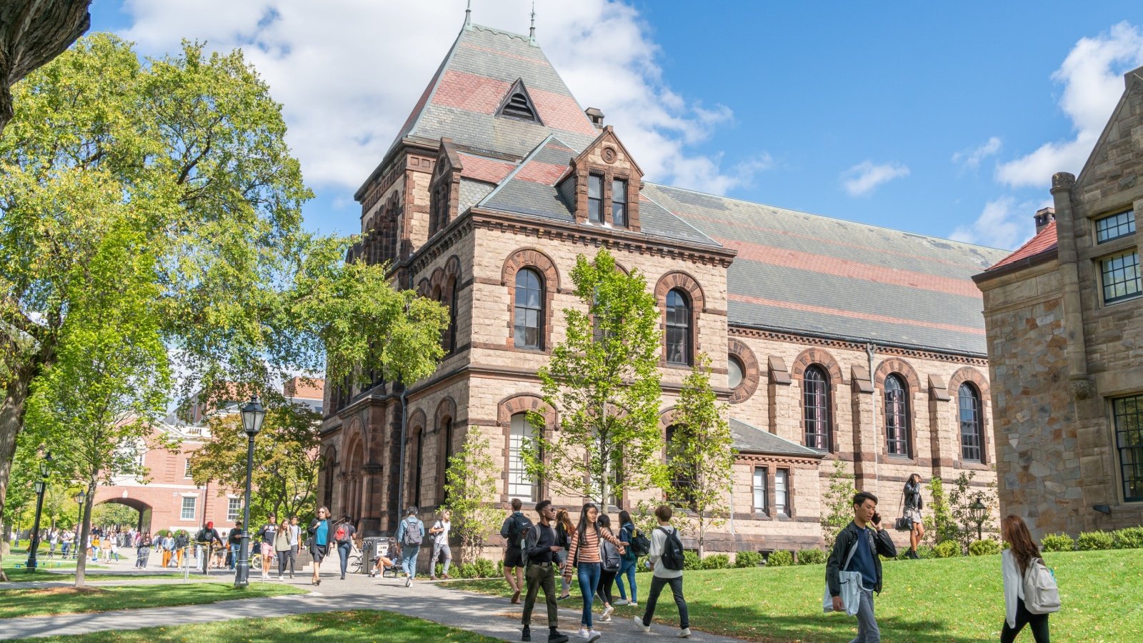
[[[985,355],[972,275],[1004,251],[647,183],[725,247],[732,324]]]

